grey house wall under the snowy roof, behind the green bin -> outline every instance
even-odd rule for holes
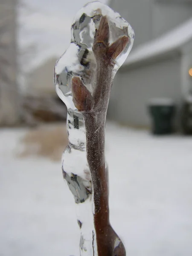
[[[181,100],[181,58],[122,68],[113,84],[108,108],[108,118],[126,125],[150,125],[147,110],[151,98],[170,97],[177,104]]]

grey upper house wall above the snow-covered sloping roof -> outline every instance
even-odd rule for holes
[[[192,17],[191,0],[111,0],[110,7],[133,27],[133,49]]]

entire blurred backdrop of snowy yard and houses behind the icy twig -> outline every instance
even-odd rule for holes
[[[109,102],[111,223],[132,256],[192,255],[192,0],[106,0],[135,31]],[[0,0],[0,256],[79,255],[56,60],[86,0]]]

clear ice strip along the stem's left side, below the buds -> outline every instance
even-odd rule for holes
[[[79,224],[80,255],[96,256],[93,198],[90,169],[86,157],[86,134],[83,116],[72,109],[67,113],[69,143],[62,156],[62,170],[76,202]],[[94,247],[93,247],[94,244]]]

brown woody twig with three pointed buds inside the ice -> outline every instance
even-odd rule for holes
[[[96,89],[91,95],[78,76],[72,78],[73,102],[81,111],[86,126],[87,161],[94,195],[94,225],[98,256],[125,256],[125,247],[109,221],[108,169],[105,166],[105,119],[113,82],[115,59],[129,42],[127,36],[109,45],[109,26],[102,16],[93,41],[96,58]],[[115,244],[118,245],[115,245]]]

